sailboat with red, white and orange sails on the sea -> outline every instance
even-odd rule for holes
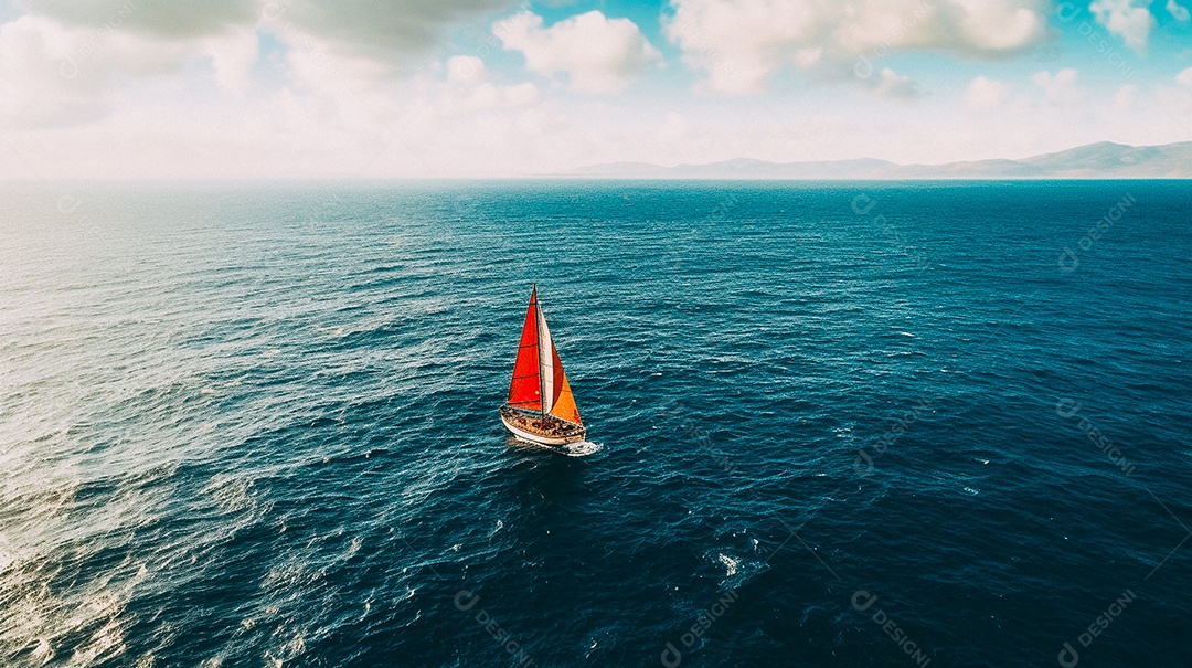
[[[545,446],[566,445],[588,435],[538,303],[536,285],[529,291],[529,308],[517,345],[509,397],[501,407],[501,421],[515,437]]]

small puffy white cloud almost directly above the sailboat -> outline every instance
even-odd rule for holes
[[[542,17],[521,12],[492,26],[507,50],[521,51],[526,68],[542,74],[565,72],[582,91],[615,92],[644,73],[662,55],[629,19],[608,19],[592,11],[542,27]]]

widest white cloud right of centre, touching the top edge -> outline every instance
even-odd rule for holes
[[[868,80],[894,50],[974,57],[1048,37],[1044,0],[671,0],[668,38],[724,93],[756,93],[784,67]],[[874,85],[870,84],[870,87]],[[881,82],[876,85],[881,86]]]

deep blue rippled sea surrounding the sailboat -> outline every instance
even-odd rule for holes
[[[1192,664],[1185,183],[0,192],[4,666]]]

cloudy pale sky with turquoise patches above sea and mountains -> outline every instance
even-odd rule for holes
[[[1192,141],[1192,0],[0,0],[0,179]]]

